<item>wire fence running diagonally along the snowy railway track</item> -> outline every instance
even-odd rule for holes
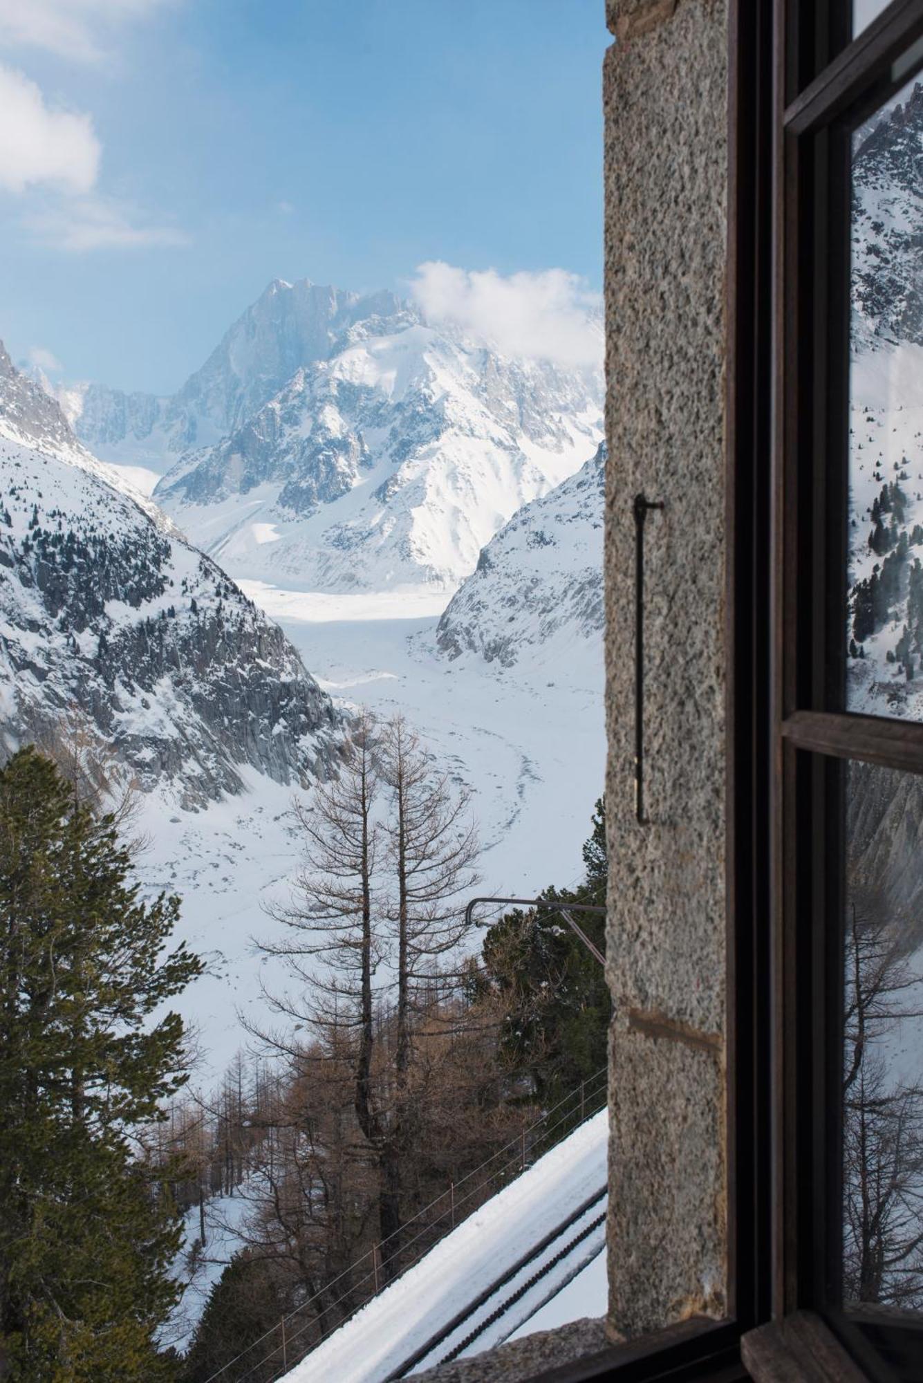
[[[608,1070],[602,1068],[533,1123],[524,1126],[515,1138],[485,1158],[479,1166],[450,1182],[394,1235],[374,1243],[348,1268],[209,1375],[204,1383],[274,1383],[283,1377],[305,1354],[368,1306],[398,1274],[420,1263],[485,1200],[515,1180],[575,1127],[598,1113],[605,1105],[607,1090]],[[412,1238],[406,1239],[410,1231]],[[397,1239],[397,1249],[390,1239]],[[330,1293],[336,1293],[333,1299]],[[329,1324],[325,1325],[325,1319]]]

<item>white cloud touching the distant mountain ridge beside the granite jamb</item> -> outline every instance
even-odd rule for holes
[[[430,322],[453,322],[504,355],[601,365],[601,299],[562,268],[497,274],[439,260],[420,264],[412,292]]]

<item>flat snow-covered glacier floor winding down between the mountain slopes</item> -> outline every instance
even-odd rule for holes
[[[601,636],[575,646],[564,664],[533,656],[511,675],[438,656],[438,597],[240,586],[282,626],[323,690],[386,716],[403,711],[471,788],[484,893],[532,898],[582,877],[580,846],[605,769]],[[283,985],[278,963],[257,956],[253,938],[279,927],[265,907],[285,900],[301,855],[290,802],[290,788],[253,773],[245,794],[206,810],[178,812],[158,797],[145,806],[142,875],[181,895],[184,935],[210,961],[180,1001],[199,1030],[196,1079],[204,1083],[246,1041],[238,1014],[258,1019],[264,986]]]

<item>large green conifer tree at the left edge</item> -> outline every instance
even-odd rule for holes
[[[185,1080],[181,1019],[153,1018],[202,968],[163,956],[177,910],[50,759],[0,769],[0,1376],[169,1377],[180,1227],[130,1137]]]

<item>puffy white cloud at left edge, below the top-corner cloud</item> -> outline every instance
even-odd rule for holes
[[[57,184],[88,192],[101,147],[88,115],[55,111],[22,72],[0,65],[0,188],[25,192]]]

